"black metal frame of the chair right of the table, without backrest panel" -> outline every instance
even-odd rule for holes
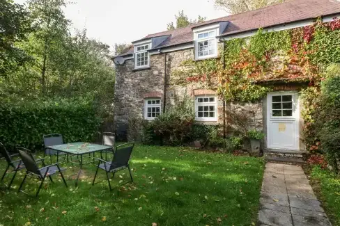
[[[114,178],[114,175],[116,174],[116,172],[121,171],[121,170],[125,170],[127,168],[129,170],[131,180],[125,182],[124,184],[130,183],[130,182],[133,183],[133,178],[132,178],[131,169],[130,169],[130,165],[129,165],[130,156],[129,156],[127,162],[123,166],[118,166],[117,168],[112,167],[115,163],[115,160],[116,160],[116,158],[115,158],[116,152],[121,147],[123,147],[125,145],[132,145],[131,146],[131,152],[130,152],[130,155],[131,155],[133,147],[134,147],[134,143],[125,143],[125,144],[119,145],[115,148],[114,157],[113,157],[113,160],[111,162],[105,161],[104,159],[96,158],[96,159],[98,159],[98,166],[97,166],[97,170],[95,171],[95,177],[97,177],[98,170],[100,169],[100,163],[104,163],[104,166],[105,166],[105,169],[106,169],[105,172],[106,172],[106,175],[107,175],[107,183],[109,184],[110,191],[112,190],[112,187],[111,187],[111,183],[110,183],[110,179],[109,179],[109,173],[112,173],[113,174],[112,178]],[[109,170],[107,170],[107,166],[109,166]],[[104,170],[104,169],[102,169],[102,170]],[[93,178],[92,186],[95,184],[95,177]],[[122,186],[124,184],[119,184],[119,186]]]

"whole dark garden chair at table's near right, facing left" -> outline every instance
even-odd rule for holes
[[[112,178],[114,177],[114,174],[120,170],[124,170],[125,168],[127,168],[130,172],[130,178],[131,181],[133,183],[133,179],[132,179],[132,174],[131,174],[131,170],[130,170],[130,166],[129,166],[129,160],[130,160],[130,156],[132,153],[134,147],[134,143],[127,143],[124,145],[119,145],[115,148],[114,151],[114,157],[112,159],[111,162],[105,161],[103,159],[98,159],[98,166],[97,166],[97,170],[95,171],[95,177],[97,177],[97,173],[99,169],[105,170],[105,173],[107,175],[107,182],[109,183],[109,188],[110,191],[112,190],[111,188],[111,184],[110,184],[110,180],[109,180],[109,173],[113,173]],[[93,178],[93,182],[92,185],[95,184],[95,177]],[[127,181],[125,184],[131,182],[131,181]],[[121,184],[123,185],[123,184]]]

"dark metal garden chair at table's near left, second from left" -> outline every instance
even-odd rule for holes
[[[22,159],[22,162],[25,164],[25,167],[26,167],[26,174],[25,174],[24,179],[22,180],[22,183],[20,184],[18,192],[21,191],[21,192],[25,193],[24,191],[21,190],[21,188],[24,185],[24,181],[26,180],[26,177],[28,175],[36,176],[41,181],[40,186],[38,188],[38,191],[36,193],[36,197],[38,197],[38,195],[39,195],[40,188],[42,187],[42,184],[44,183],[45,178],[49,177],[49,179],[53,183],[51,176],[58,173],[58,172],[60,173],[61,178],[63,179],[65,186],[68,186],[68,184],[66,184],[65,178],[63,177],[63,173],[61,172],[62,170],[65,170],[65,168],[60,168],[59,163],[54,163],[54,164],[49,165],[49,166],[44,166],[42,168],[38,168],[38,164],[34,160],[33,155],[31,154],[30,150],[27,150],[24,147],[17,147],[17,150],[19,152],[20,158]],[[27,194],[27,193],[25,193],[25,194]]]

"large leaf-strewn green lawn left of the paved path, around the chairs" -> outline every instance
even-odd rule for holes
[[[49,159],[48,159],[49,160]],[[0,170],[4,170],[1,159]],[[47,161],[49,162],[49,161]],[[137,145],[132,153],[134,184],[123,170],[112,179],[109,191],[100,170],[91,185],[95,166],[85,167],[75,188],[77,167],[64,165],[68,188],[61,178],[46,180],[38,199],[1,189],[0,225],[252,225],[256,223],[263,176],[263,159],[207,153],[185,147]],[[6,181],[11,175],[6,177]],[[101,182],[100,182],[101,181]],[[123,182],[121,182],[123,183]],[[4,184],[1,184],[3,187]],[[28,179],[25,191],[33,194],[38,181]]]

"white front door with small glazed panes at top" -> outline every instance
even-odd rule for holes
[[[270,92],[267,104],[268,148],[299,150],[298,93]]]

